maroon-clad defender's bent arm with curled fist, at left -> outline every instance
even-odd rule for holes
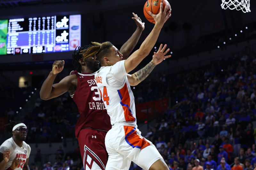
[[[72,80],[76,78],[76,75],[71,75],[63,78],[59,83],[53,85],[54,79],[57,74],[64,68],[64,60],[54,61],[52,64],[52,71],[48,77],[44,80],[44,83],[40,90],[40,98],[42,100],[49,100],[60,96],[72,88]]]

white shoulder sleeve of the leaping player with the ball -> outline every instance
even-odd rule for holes
[[[127,73],[124,67],[124,60],[122,60],[110,66],[106,80],[108,85],[118,88],[124,84],[126,75]]]

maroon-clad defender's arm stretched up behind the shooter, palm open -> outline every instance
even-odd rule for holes
[[[124,45],[120,48],[120,53],[123,54],[123,60],[126,60],[133,48],[136,46],[137,42],[140,39],[140,35],[145,28],[145,23],[141,21],[140,17],[137,14],[132,12],[132,19],[135,21],[137,28],[132,36],[124,43]]]

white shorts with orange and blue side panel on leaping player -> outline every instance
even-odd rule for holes
[[[106,170],[128,170],[131,161],[148,170],[163,159],[156,147],[133,126],[113,126],[105,137],[108,152]]]

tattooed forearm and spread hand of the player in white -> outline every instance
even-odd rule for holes
[[[145,78],[148,77],[156,65],[160,64],[166,58],[171,57],[171,55],[166,55],[170,51],[169,48],[165,50],[166,46],[167,45],[165,44],[163,47],[163,44],[161,44],[158,48],[158,51],[154,52],[153,59],[145,67],[133,73],[132,75],[127,74],[127,78],[131,86],[138,85],[140,82],[145,80]]]

